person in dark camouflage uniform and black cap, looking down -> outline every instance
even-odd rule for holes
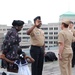
[[[14,20],[12,22],[12,28],[7,32],[5,35],[5,39],[2,44],[3,54],[10,60],[16,60],[17,50],[20,48],[20,37],[18,32],[21,31],[24,22],[21,20]],[[7,71],[10,72],[17,72],[18,67],[17,65],[7,63],[6,61],[2,60],[2,68],[7,68]]]

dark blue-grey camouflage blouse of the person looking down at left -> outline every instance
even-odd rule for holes
[[[17,55],[17,50],[20,47],[19,43],[20,43],[21,39],[18,36],[18,32],[17,30],[12,27],[6,34],[5,39],[3,41],[3,45],[2,45],[2,50],[3,50],[3,54],[5,54],[5,56],[10,59],[10,60],[16,60],[18,55]],[[7,67],[9,67],[10,69],[14,69],[13,64],[9,64],[7,65]]]

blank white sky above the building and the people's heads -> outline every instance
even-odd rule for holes
[[[42,23],[58,22],[67,11],[75,13],[75,0],[0,0],[0,24],[11,26],[13,20],[33,22],[41,16]]]

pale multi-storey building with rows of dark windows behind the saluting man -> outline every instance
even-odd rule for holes
[[[30,46],[30,36],[26,34],[26,31],[31,27],[30,24],[25,24],[23,29],[19,32],[19,36],[21,37],[21,47],[28,48]],[[11,26],[1,25],[0,33],[3,33],[3,36],[10,30]],[[57,45],[57,35],[59,32],[59,23],[49,23],[43,24],[41,27],[45,33],[45,46],[51,47]]]

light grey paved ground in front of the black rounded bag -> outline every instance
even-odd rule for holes
[[[60,75],[58,61],[45,63],[43,75]],[[75,67],[72,68],[72,75],[75,75]]]

